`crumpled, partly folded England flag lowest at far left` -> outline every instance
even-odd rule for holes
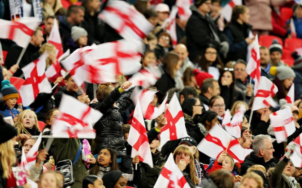
[[[30,170],[31,166],[36,164],[36,158],[38,155],[39,146],[42,140],[42,132],[40,133],[37,141],[32,146],[32,148],[28,151],[28,153],[24,153],[24,148],[22,148],[22,156],[20,167],[24,167],[26,170]]]

